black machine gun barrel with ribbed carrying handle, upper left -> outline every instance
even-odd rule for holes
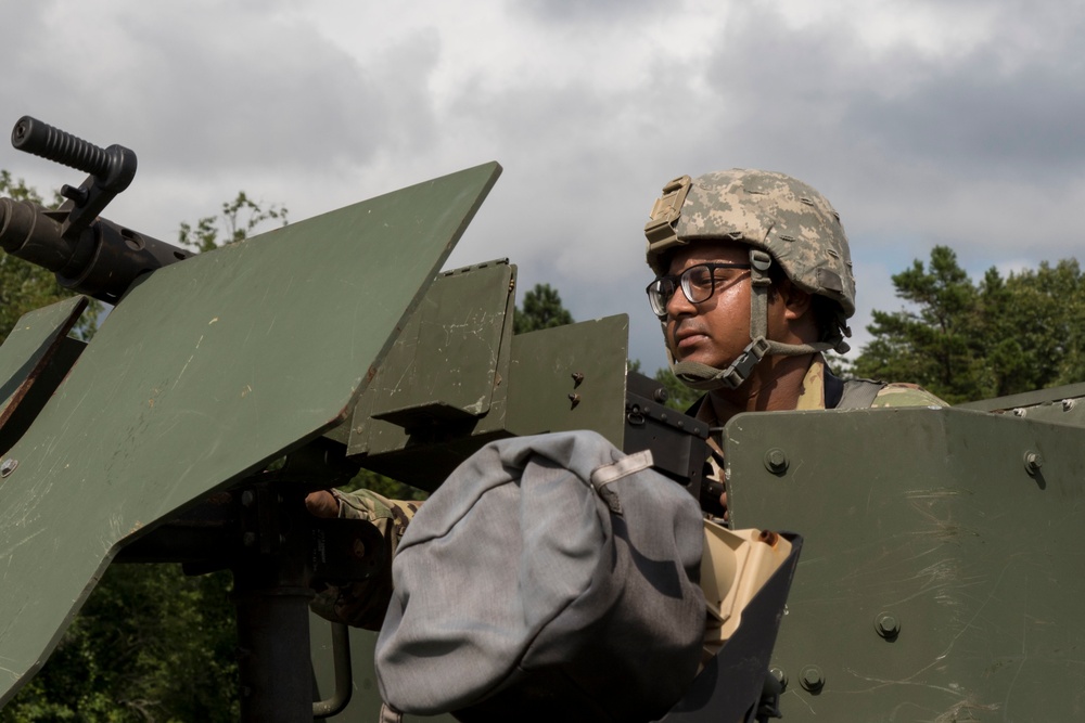
[[[11,142],[90,173],[81,185],[61,190],[68,201],[55,210],[0,198],[0,246],[12,256],[54,272],[65,288],[116,304],[139,275],[192,255],[99,217],[136,175],[128,149],[102,149],[29,116],[15,124]]]

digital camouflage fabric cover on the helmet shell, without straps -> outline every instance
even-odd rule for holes
[[[843,322],[855,313],[855,279],[840,215],[802,181],[735,168],[675,179],[644,227],[648,264],[666,273],[666,257],[697,241],[737,241],[761,248],[796,286],[835,301]],[[842,324],[843,325],[843,324]]]

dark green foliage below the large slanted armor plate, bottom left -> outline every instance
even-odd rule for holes
[[[230,576],[114,565],[2,723],[235,721]]]

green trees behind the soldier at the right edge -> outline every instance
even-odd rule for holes
[[[873,312],[858,376],[912,382],[948,402],[1085,379],[1085,276],[1074,259],[973,283],[945,246],[893,276],[910,304]]]

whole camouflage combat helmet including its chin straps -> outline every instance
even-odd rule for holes
[[[648,266],[667,272],[676,248],[698,242],[736,241],[750,247],[750,344],[726,370],[698,362],[672,363],[675,375],[695,389],[736,388],[769,354],[847,351],[846,321],[855,313],[855,277],[840,215],[825,196],[802,181],[773,171],[735,168],[695,179],[676,178],[644,225]],[[822,320],[822,338],[780,344],[768,333],[769,269],[776,263],[799,288],[829,299],[834,311]]]

